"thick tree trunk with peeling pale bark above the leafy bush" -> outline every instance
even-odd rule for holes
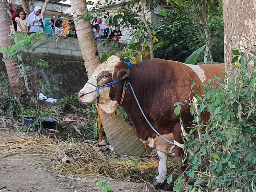
[[[256,1],[223,0],[223,20],[225,70],[228,80],[231,80],[233,74],[238,72],[231,71],[231,61],[234,57],[231,51],[236,49],[249,54],[247,50],[255,50],[253,45],[256,45]],[[249,65],[248,70],[251,69]]]

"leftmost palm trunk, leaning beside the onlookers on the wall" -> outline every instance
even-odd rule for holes
[[[9,45],[14,45],[14,40],[9,39],[10,26],[12,25],[12,19],[8,14],[9,6],[7,1],[0,1],[0,46],[4,48]],[[7,56],[8,52],[3,52],[3,56]],[[24,79],[18,79],[19,70],[17,68],[17,57],[13,57],[5,61],[5,67],[8,75],[8,79],[11,85],[12,93],[19,93],[23,91],[27,93],[27,88],[25,87]]]

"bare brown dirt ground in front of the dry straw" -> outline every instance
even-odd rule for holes
[[[3,134],[8,134],[8,130],[0,128],[0,144]],[[13,134],[13,132],[9,134]],[[0,145],[0,192],[101,192],[102,187],[96,186],[96,182],[99,180],[110,181],[109,185],[115,192],[163,191],[155,190],[150,183],[142,180],[135,183],[109,180],[98,175],[81,177],[58,175],[44,170],[45,164],[53,164],[44,155],[24,153],[6,155],[8,150],[10,148]]]

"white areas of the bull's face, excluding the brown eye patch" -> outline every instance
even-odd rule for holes
[[[101,63],[94,70],[92,76],[90,77],[90,79],[87,82],[97,85],[97,77],[103,71],[109,72],[113,76],[115,65],[118,64],[119,62],[121,62],[121,61],[118,56],[113,55],[113,56],[109,57],[107,61]],[[88,93],[95,89],[96,89],[96,87],[94,87],[93,85],[91,85],[89,83],[86,83],[84,85],[84,87],[79,92],[79,98],[80,98],[81,102],[85,103],[87,105],[90,105],[92,103],[97,103],[98,99],[97,99],[96,91],[89,93],[87,95],[83,95],[83,93]],[[100,98],[99,98],[98,104],[99,104],[100,108],[102,108],[106,113],[113,113],[119,106],[119,103],[117,101],[110,100],[109,93],[110,93],[110,87],[100,89],[99,90]]]

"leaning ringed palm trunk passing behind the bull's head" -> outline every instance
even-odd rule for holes
[[[74,12],[74,18],[77,15],[85,15],[87,12],[86,1],[71,0],[71,7]],[[81,12],[84,9],[84,12]],[[76,24],[76,31],[84,66],[86,68],[88,78],[91,77],[94,69],[100,64],[100,57],[90,21],[79,20]],[[141,156],[145,154],[144,144],[138,140],[131,127],[123,120],[119,111],[112,114],[104,115],[103,127],[109,143],[114,147],[115,152],[120,155]]]

